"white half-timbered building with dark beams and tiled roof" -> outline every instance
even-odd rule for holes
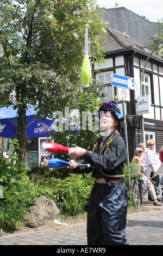
[[[103,90],[107,96],[101,101],[109,101],[117,94],[117,88],[111,85],[111,74],[134,77],[134,90],[130,90],[130,101],[125,102],[128,133],[129,159],[131,161],[137,145],[142,142],[142,127],[145,141],[154,138],[156,151],[163,144],[163,59],[153,53],[146,65],[152,50],[142,45],[125,33],[110,27],[106,28],[103,36],[105,61],[100,65],[95,63],[93,72],[96,79],[103,82]],[[141,90],[140,90],[141,89]],[[137,114],[137,97],[149,95],[149,112]],[[122,109],[122,102],[119,104]],[[142,123],[143,118],[143,123]],[[143,125],[142,125],[143,124]],[[124,134],[122,124],[122,135]],[[147,144],[146,144],[147,147]]]

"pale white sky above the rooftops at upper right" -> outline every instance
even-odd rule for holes
[[[158,22],[157,19],[163,19],[163,1],[162,0],[96,0],[99,7],[105,9],[125,7],[138,15],[146,16],[146,19],[152,22]]]

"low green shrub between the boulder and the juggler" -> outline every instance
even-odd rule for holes
[[[87,203],[95,180],[91,174],[70,174],[65,179],[37,179],[37,193],[54,200],[61,214],[76,216],[87,210]]]

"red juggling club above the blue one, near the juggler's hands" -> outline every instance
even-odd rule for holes
[[[46,151],[49,151],[49,152],[55,154],[55,155],[68,153],[67,147],[64,147],[63,145],[58,144],[56,142],[43,143],[42,148],[45,149]]]

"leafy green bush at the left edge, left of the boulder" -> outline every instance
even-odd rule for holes
[[[17,140],[10,142],[10,147],[17,149]],[[0,226],[15,228],[22,223],[28,206],[36,198],[35,188],[26,175],[27,168],[21,166],[16,153],[10,153],[8,158],[0,155],[0,185],[3,188],[3,198],[0,199]]]

